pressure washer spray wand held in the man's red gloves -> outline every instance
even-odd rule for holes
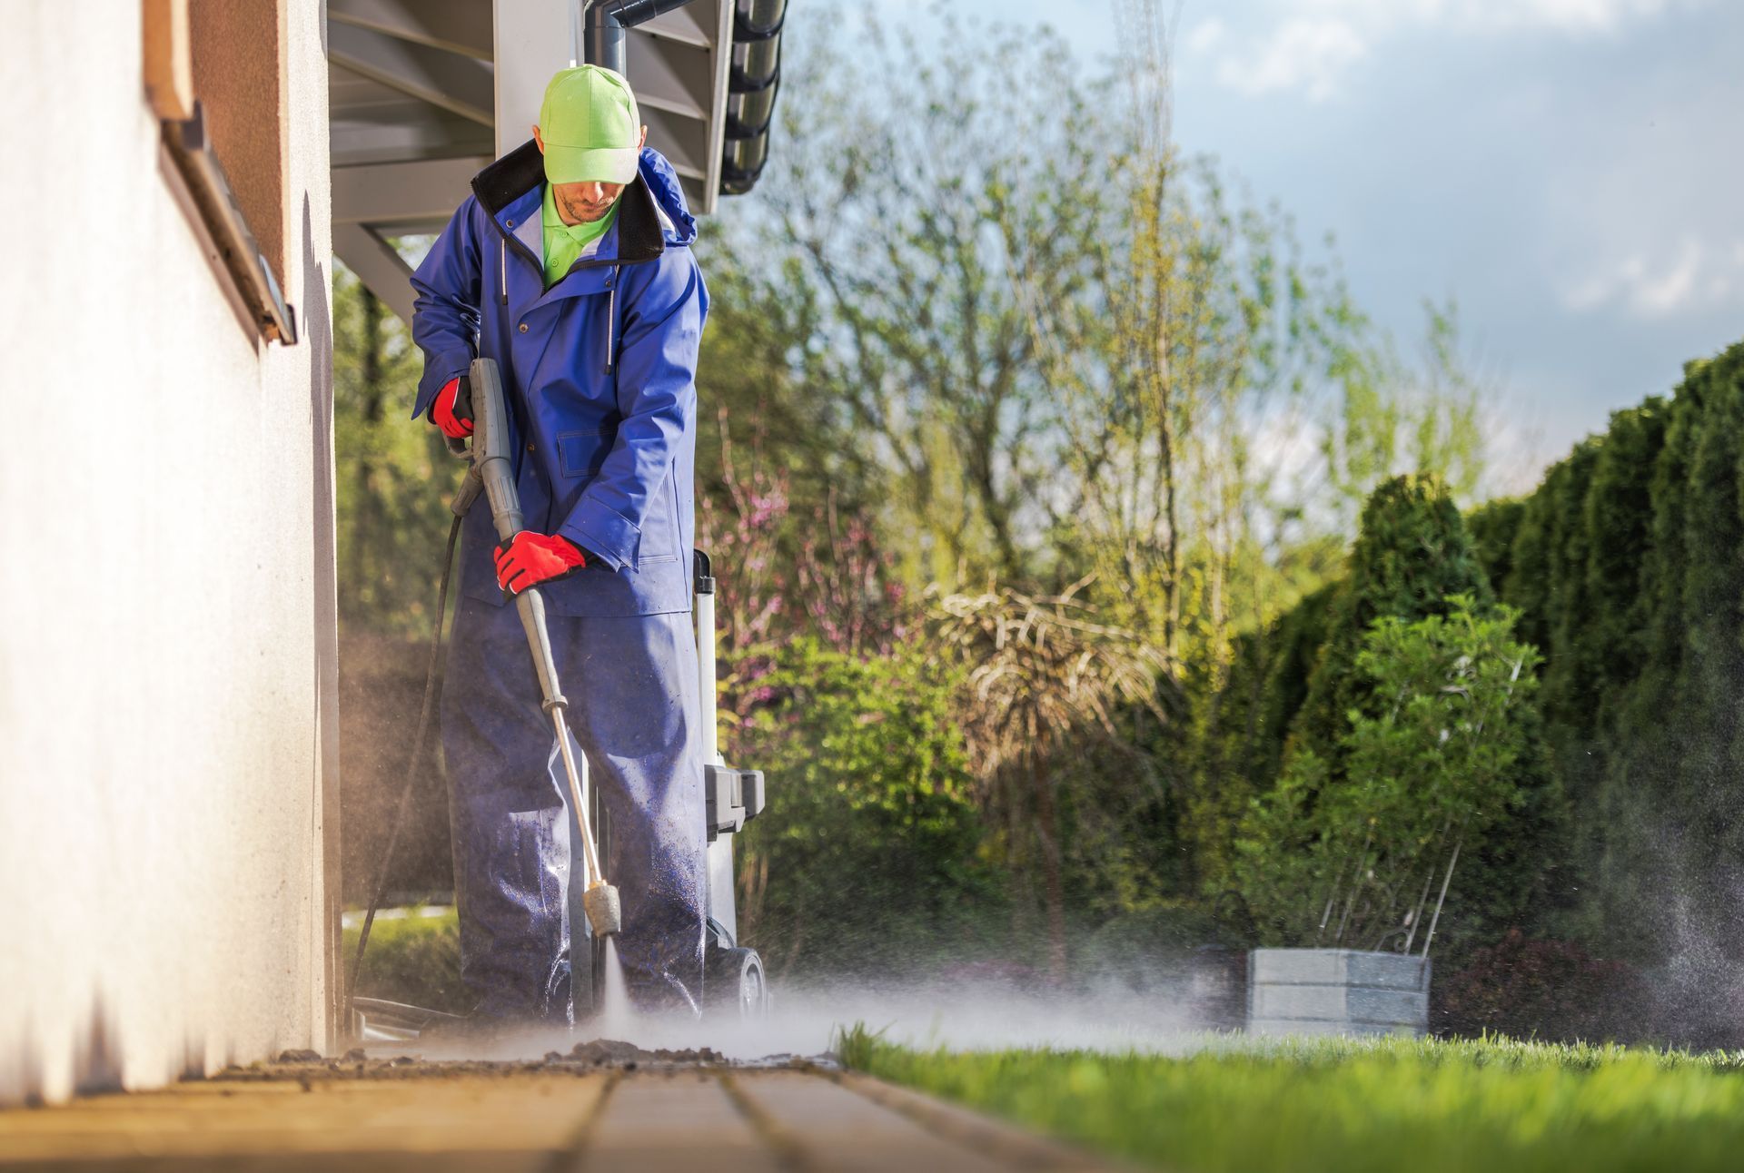
[[[473,448],[467,458],[473,462],[460,497],[455,498],[455,511],[464,512],[478,497],[473,478],[490,502],[490,521],[497,528],[497,540],[508,546],[509,539],[527,528],[521,518],[520,495],[514,492],[514,462],[509,458],[509,413],[502,397],[502,375],[495,359],[473,359],[469,373],[473,383]],[[450,448],[455,448],[453,441]],[[576,823],[581,830],[581,845],[588,863],[588,889],[581,905],[588,912],[588,924],[595,934],[612,936],[623,929],[623,905],[617,889],[605,882],[600,870],[600,854],[593,838],[593,824],[588,819],[588,803],[582,797],[581,770],[569,741],[569,723],[563,711],[569,701],[558,687],[556,661],[551,657],[551,633],[546,627],[544,596],[539,587],[527,587],[514,596],[514,610],[520,612],[521,627],[527,631],[527,645],[534,654],[534,671],[539,675],[539,694],[542,708],[551,715],[551,729],[556,734],[558,751],[563,756],[563,772],[569,776],[570,805],[576,809]]]

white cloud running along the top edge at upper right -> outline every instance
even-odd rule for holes
[[[1714,0],[1254,0],[1249,19],[1200,21],[1181,49],[1212,61],[1223,85],[1250,98],[1301,92],[1331,98],[1350,66],[1406,33],[1603,35],[1631,21]],[[1228,9],[1226,9],[1228,12]],[[1250,35],[1243,37],[1240,24]]]

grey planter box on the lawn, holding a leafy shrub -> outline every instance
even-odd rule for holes
[[[1256,948],[1247,962],[1247,1032],[1421,1037],[1428,974],[1428,960],[1404,953]]]

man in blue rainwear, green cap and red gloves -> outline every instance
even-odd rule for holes
[[[537,586],[569,720],[605,803],[619,957],[642,1006],[696,1009],[703,783],[691,633],[696,350],[708,291],[671,166],[598,66],[551,78],[534,141],[485,167],[412,284],[413,417],[469,436],[474,356],[502,368],[528,530],[467,514],[443,694],[460,964],[485,1023],[572,1021],[570,816],[527,638]],[[581,884],[581,875],[574,877]],[[574,926],[582,955],[581,926]]]

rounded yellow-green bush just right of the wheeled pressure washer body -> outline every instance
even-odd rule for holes
[[[900,973],[961,959],[998,910],[954,680],[930,648],[790,643],[759,680],[738,760],[771,779],[738,840],[745,939],[776,973]]]

